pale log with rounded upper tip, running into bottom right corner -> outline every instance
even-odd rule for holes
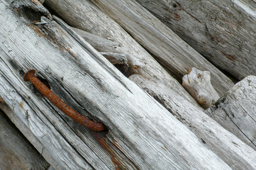
[[[186,125],[197,137],[201,139],[209,149],[212,149],[221,157],[232,169],[256,169],[256,152],[245,145],[244,142],[235,137],[231,132],[227,132],[221,125],[216,123],[203,111],[199,111],[190,103],[184,101],[184,98],[175,94],[174,91],[168,91],[161,94],[157,89],[165,89],[162,84],[155,84],[134,74],[129,79],[141,81],[140,87],[148,91],[157,101],[162,103],[167,110],[178,120]],[[145,84],[145,86],[143,86]],[[155,89],[146,89],[146,86],[155,87]],[[172,98],[167,96],[172,95]],[[245,155],[247,157],[245,158]],[[249,160],[249,162],[247,162]],[[253,164],[253,165],[252,165]]]

